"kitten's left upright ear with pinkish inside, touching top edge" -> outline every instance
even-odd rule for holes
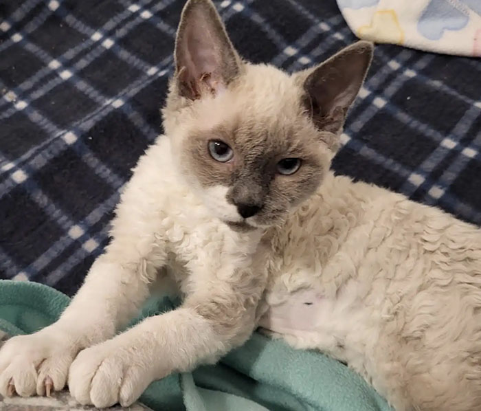
[[[175,69],[181,96],[196,100],[216,94],[238,76],[240,58],[210,0],[188,0],[175,41]]]

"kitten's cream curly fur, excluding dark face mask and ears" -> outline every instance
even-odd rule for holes
[[[251,230],[232,230],[223,220],[242,219],[227,187],[205,188],[180,167],[192,131],[239,113],[314,130],[294,104],[297,77],[243,64],[215,96],[170,97],[166,135],[139,160],[113,239],[71,305],[1,349],[0,394],[45,395],[68,379],[80,403],[128,406],[150,381],[215,362],[260,324],[347,362],[398,411],[480,410],[478,227],[335,177],[326,140],[313,147],[322,184],[268,227],[250,218]],[[115,336],[157,285],[181,307]]]

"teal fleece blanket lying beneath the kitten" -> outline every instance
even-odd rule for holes
[[[45,285],[0,280],[0,329],[33,333],[54,322],[68,304],[67,296]],[[135,321],[172,308],[166,298],[152,298]],[[153,382],[140,400],[155,411],[391,410],[346,366],[258,333],[215,366]]]

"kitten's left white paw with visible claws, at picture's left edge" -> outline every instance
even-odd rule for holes
[[[0,395],[50,395],[65,386],[75,348],[71,339],[55,329],[20,335],[0,350]]]

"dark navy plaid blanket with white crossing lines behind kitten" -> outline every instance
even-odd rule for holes
[[[0,278],[71,294],[161,133],[183,0],[0,4]],[[289,71],[355,37],[335,0],[217,2],[234,44]],[[380,45],[333,168],[481,223],[481,61]]]

